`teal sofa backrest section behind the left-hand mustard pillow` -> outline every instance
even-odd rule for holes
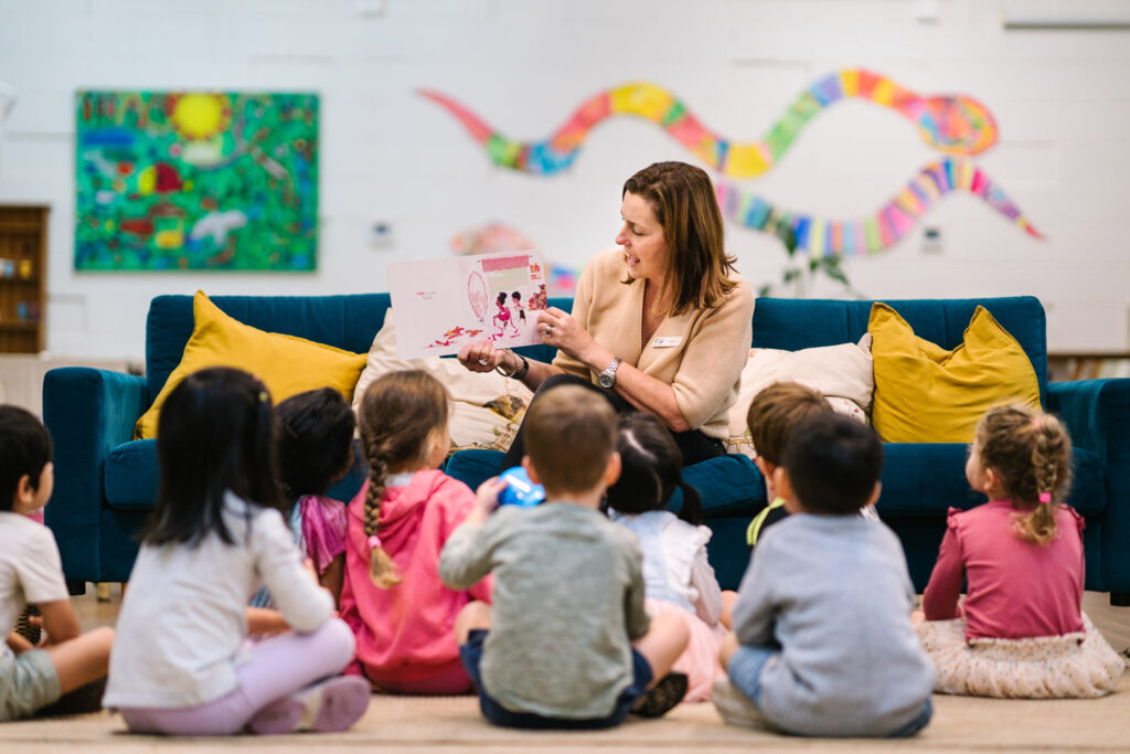
[[[211,302],[229,317],[268,332],[281,332],[357,354],[367,354],[391,304],[386,293],[345,296],[214,296]],[[550,298],[550,306],[565,311],[572,298]],[[181,363],[192,337],[192,296],[157,296],[146,319],[146,382],[149,404]],[[528,346],[527,356],[551,361],[555,349]]]

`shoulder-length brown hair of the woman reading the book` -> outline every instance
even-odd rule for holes
[[[664,291],[671,293],[666,313],[716,306],[737,285],[729,276],[737,260],[725,253],[722,213],[706,172],[654,163],[625,181],[620,197],[628,192],[645,199],[663,227]]]

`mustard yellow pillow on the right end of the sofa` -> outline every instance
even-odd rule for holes
[[[887,442],[972,442],[992,406],[1040,406],[1032,362],[983,306],[953,350],[915,336],[886,304],[871,306],[867,329],[875,359],[871,423]]]

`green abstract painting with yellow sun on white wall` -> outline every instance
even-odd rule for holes
[[[316,269],[316,94],[79,92],[76,104],[75,269]]]

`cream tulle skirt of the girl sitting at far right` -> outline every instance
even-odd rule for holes
[[[965,621],[925,621],[918,627],[938,666],[942,694],[1016,699],[1104,696],[1119,685],[1125,661],[1083,616],[1084,632],[1035,639],[965,639]]]

